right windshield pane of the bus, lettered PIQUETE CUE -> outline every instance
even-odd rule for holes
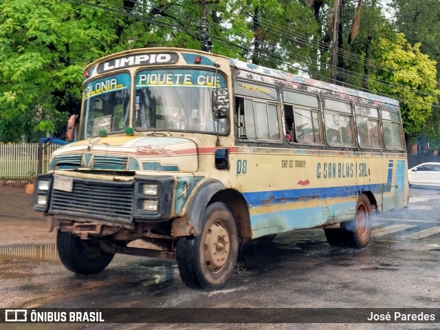
[[[216,72],[157,69],[137,73],[134,125],[137,130],[226,131],[212,112],[212,91],[225,87]]]

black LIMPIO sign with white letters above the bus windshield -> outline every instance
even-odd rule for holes
[[[98,65],[98,73],[109,72],[115,69],[123,69],[124,67],[136,67],[140,65],[157,65],[157,64],[174,64],[179,60],[176,53],[145,53],[133,54],[112,58],[110,61],[100,63]]]

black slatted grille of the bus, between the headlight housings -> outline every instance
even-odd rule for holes
[[[133,182],[74,178],[72,191],[52,189],[50,214],[131,223]]]

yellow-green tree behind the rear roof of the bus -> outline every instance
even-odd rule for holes
[[[420,43],[410,45],[401,33],[396,34],[395,42],[381,38],[373,47],[375,61],[382,69],[371,75],[369,87],[399,100],[406,137],[414,136],[440,95],[436,63],[420,52]]]

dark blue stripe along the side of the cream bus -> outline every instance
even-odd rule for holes
[[[350,197],[366,190],[382,192],[382,184],[243,192],[243,197],[252,208],[277,203],[304,201],[305,199]]]

